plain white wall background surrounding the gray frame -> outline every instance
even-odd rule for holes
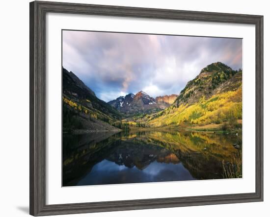
[[[58,0],[75,2],[75,0]],[[28,0],[1,2],[0,9],[0,216],[27,216],[29,210],[29,4]],[[73,217],[137,216],[268,216],[270,206],[270,6],[266,0],[78,0],[80,3],[155,7],[264,15],[265,71],[265,201],[170,209],[80,214]]]

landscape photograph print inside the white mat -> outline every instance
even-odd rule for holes
[[[242,178],[242,39],[62,30],[62,186]]]

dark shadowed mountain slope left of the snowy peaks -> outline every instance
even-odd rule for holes
[[[119,112],[96,97],[73,72],[62,71],[63,131],[117,131]],[[112,126],[114,125],[114,126]],[[119,124],[118,124],[119,125]],[[117,126],[118,126],[117,125]],[[121,127],[121,125],[119,125]]]

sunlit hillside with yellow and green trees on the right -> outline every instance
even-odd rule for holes
[[[169,108],[149,116],[147,123],[152,127],[238,127],[242,123],[242,70],[233,71],[220,62],[207,66],[188,82]]]

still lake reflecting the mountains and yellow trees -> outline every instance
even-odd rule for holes
[[[63,186],[242,177],[242,135],[179,131],[63,134]]]

